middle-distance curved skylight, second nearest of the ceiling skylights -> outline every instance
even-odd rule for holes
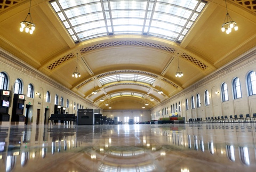
[[[129,74],[129,73],[111,75],[111,76],[107,76],[99,79],[101,85],[114,83],[117,81],[138,81],[141,83],[153,85],[155,80],[156,80],[155,78],[151,78],[143,75],[137,75],[137,74]]]

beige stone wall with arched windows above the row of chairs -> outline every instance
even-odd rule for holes
[[[218,116],[230,116],[237,114],[243,114],[245,117],[246,113],[252,116],[252,113],[256,113],[256,95],[248,96],[247,91],[247,75],[250,71],[256,71],[256,47],[253,50],[237,57],[234,61],[229,62],[222,68],[214,71],[209,76],[197,81],[197,83],[184,89],[177,95],[170,97],[170,99],[162,102],[157,107],[151,109],[153,119],[159,119],[166,115],[160,114],[156,116],[156,111],[162,111],[163,108],[171,108],[171,105],[176,102],[181,102],[180,117],[189,118],[202,118],[205,117],[218,117]],[[184,73],[186,75],[186,73]],[[242,98],[234,100],[233,98],[233,79],[238,77],[241,82]],[[229,101],[222,102],[221,99],[221,85],[227,84]],[[204,92],[206,89],[210,94],[210,105],[205,106],[204,103]],[[218,91],[218,94],[215,94]],[[191,109],[191,96],[195,97],[196,107],[196,95],[199,93],[201,97],[201,107]],[[185,109],[185,100],[188,99],[189,109]]]

